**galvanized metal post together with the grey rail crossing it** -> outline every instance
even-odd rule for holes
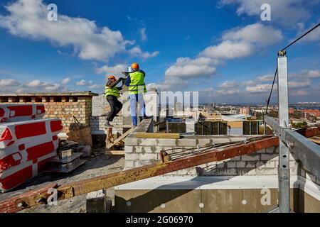
[[[293,153],[297,161],[316,177],[320,176],[320,146],[307,140],[303,135],[292,131],[289,125],[288,101],[288,69],[285,51],[279,51],[277,57],[277,88],[278,88],[278,120],[265,116],[265,122],[279,137],[279,213],[290,212],[290,168],[289,155]]]

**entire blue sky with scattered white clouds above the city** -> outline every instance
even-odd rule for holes
[[[264,3],[271,21],[260,18]],[[101,93],[105,75],[139,62],[149,88],[263,102],[277,51],[319,15],[320,0],[0,0],[0,92]],[[288,61],[289,101],[320,101],[320,28]]]

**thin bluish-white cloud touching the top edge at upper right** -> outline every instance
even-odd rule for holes
[[[315,2],[316,3],[316,2]],[[319,3],[319,1],[318,1]],[[309,8],[314,4],[312,1],[304,0],[222,0],[220,6],[237,4],[237,14],[256,16],[260,20],[262,4],[270,4],[271,21],[277,21],[284,26],[297,26],[298,22],[307,21],[310,12]],[[318,6],[319,7],[319,6]]]

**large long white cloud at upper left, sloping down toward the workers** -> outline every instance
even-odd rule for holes
[[[74,52],[83,60],[109,60],[126,46],[134,44],[125,40],[120,31],[98,27],[95,21],[86,18],[73,18],[62,14],[58,21],[47,20],[47,6],[42,0],[18,0],[6,6],[9,12],[0,16],[0,27],[12,35],[33,40],[49,40],[60,47],[73,46]],[[58,53],[62,53],[60,50]],[[142,52],[144,57],[153,57]],[[149,56],[152,55],[152,56]]]

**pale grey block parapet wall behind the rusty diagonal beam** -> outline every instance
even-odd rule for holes
[[[191,135],[179,139],[135,138],[136,132],[150,132],[153,125],[151,120],[144,120],[125,140],[125,169],[151,165],[160,161],[160,151],[178,148],[180,150],[197,148],[198,146],[213,145],[242,141],[256,135]],[[176,152],[180,150],[175,150]],[[170,153],[169,151],[168,153]],[[245,176],[245,175],[277,175],[278,148],[267,148],[250,155],[241,155],[222,162],[210,162],[206,165],[171,172],[167,176]],[[312,182],[319,184],[310,173],[290,155],[290,174],[302,175]]]

